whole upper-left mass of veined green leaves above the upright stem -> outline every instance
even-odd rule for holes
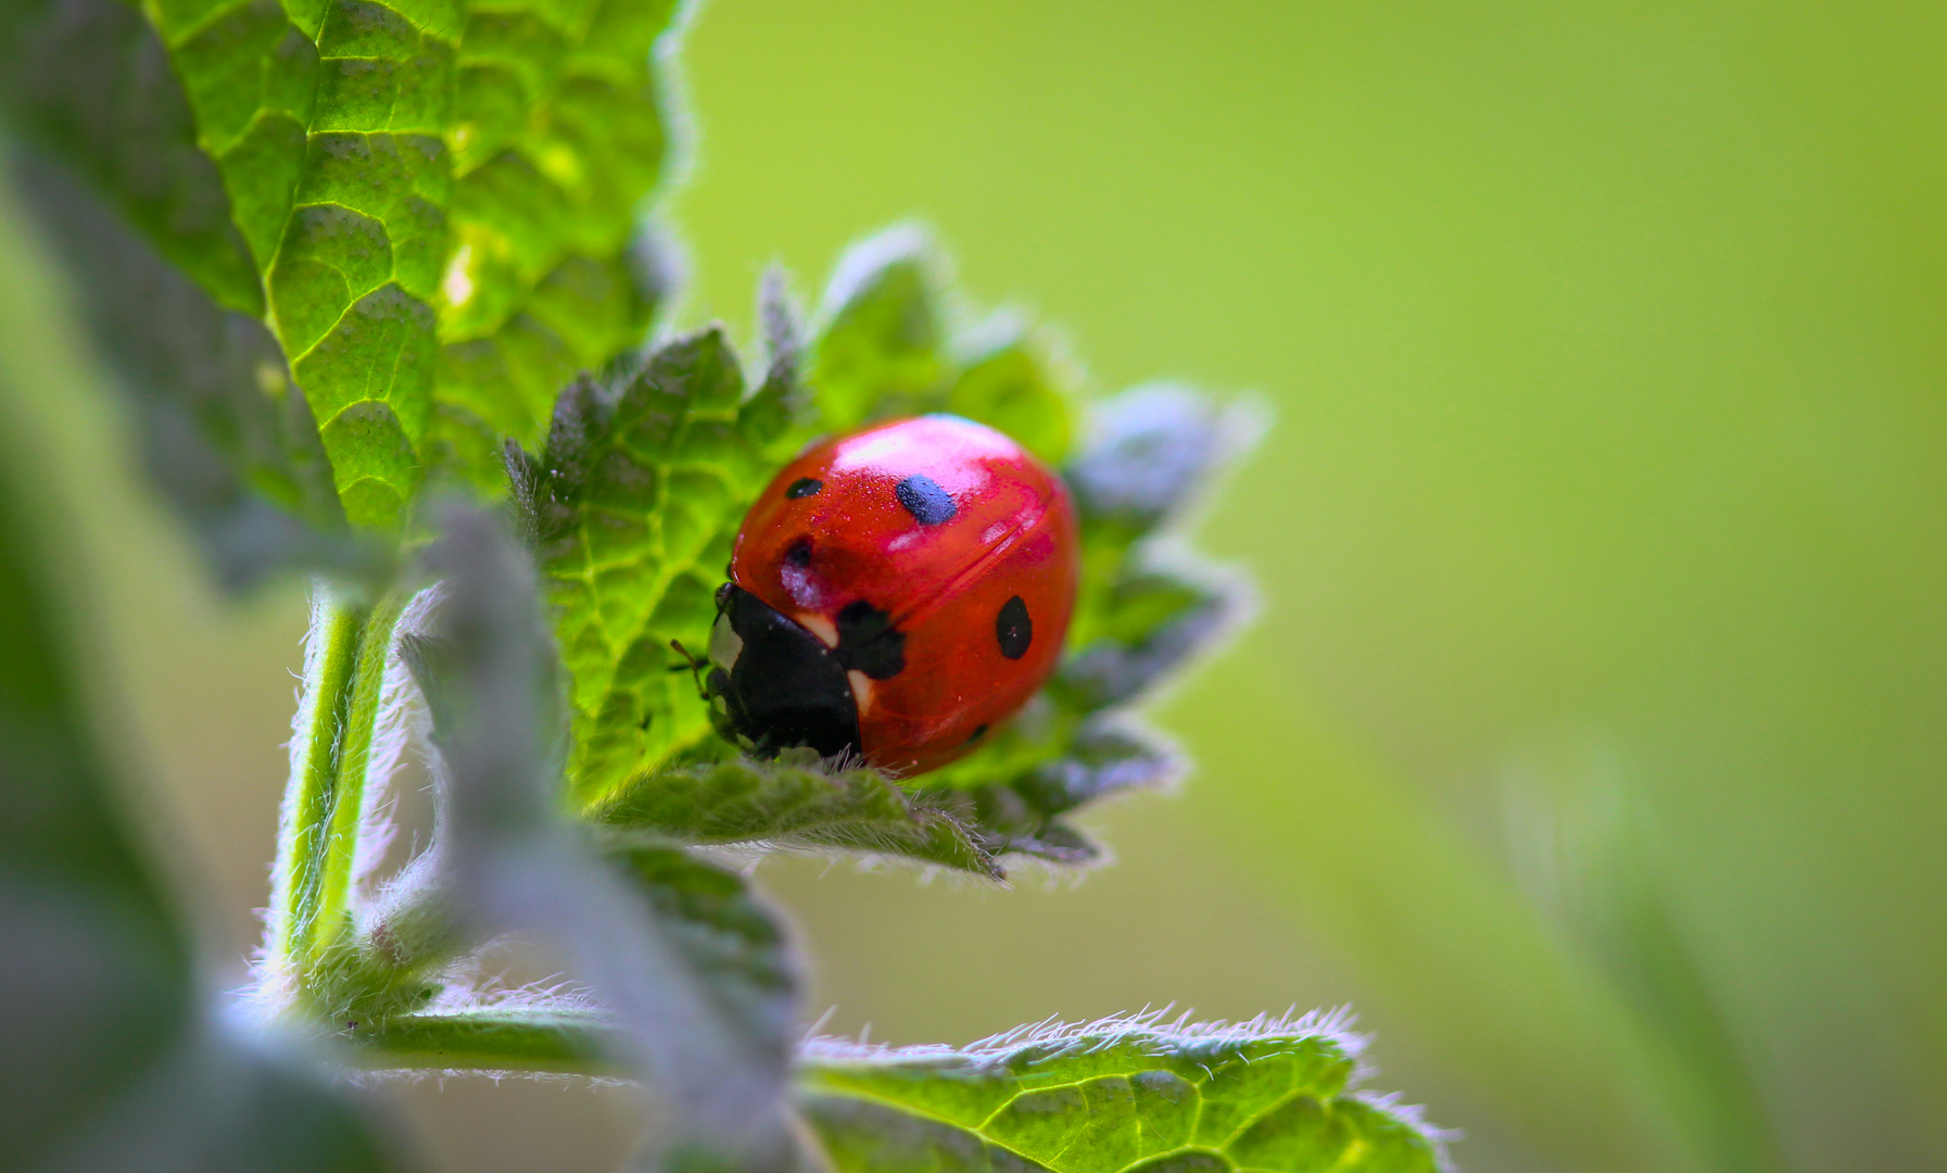
[[[294,384],[310,427],[251,479],[304,485],[259,487],[313,520],[397,530],[428,468],[498,487],[498,438],[532,440],[576,370],[644,333],[658,288],[635,216],[664,166],[650,49],[672,18],[629,0],[45,0],[0,23],[0,72],[10,121],[195,281],[204,318],[275,337],[208,372],[224,403],[199,413],[204,440],[263,433],[249,397]],[[136,253],[95,247],[80,269],[113,300]],[[150,397],[199,397],[181,370],[129,366]],[[284,468],[315,448],[329,505]]]

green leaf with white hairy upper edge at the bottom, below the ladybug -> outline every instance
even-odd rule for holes
[[[1441,1134],[1347,1091],[1334,1019],[1032,1027],[966,1050],[814,1042],[800,1111],[839,1173],[1433,1173]]]

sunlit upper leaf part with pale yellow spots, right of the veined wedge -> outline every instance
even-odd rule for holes
[[[467,18],[436,433],[456,472],[493,489],[498,436],[539,440],[559,390],[641,343],[662,298],[637,212],[670,154],[656,62],[676,8],[514,2]]]

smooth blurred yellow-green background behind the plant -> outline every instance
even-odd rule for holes
[[[681,322],[919,216],[1094,390],[1275,411],[1201,528],[1262,618],[1155,711],[1184,791],[1079,881],[767,863],[814,1013],[1351,1003],[1468,1169],[1947,1169],[1943,62],[1912,2],[715,0]],[[239,974],[302,596],[214,598],[117,475],[115,682]],[[389,1095],[456,1173],[629,1142]]]

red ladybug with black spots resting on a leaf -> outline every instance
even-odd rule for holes
[[[757,754],[944,766],[1055,670],[1079,563],[1061,477],[989,427],[921,415],[816,444],[738,530],[711,719]]]

